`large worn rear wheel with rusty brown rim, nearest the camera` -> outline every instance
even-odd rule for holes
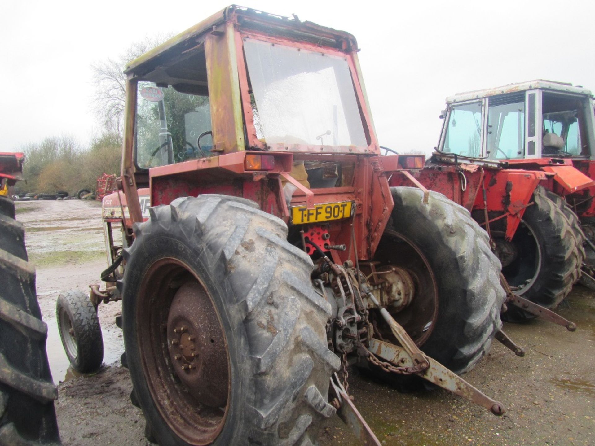
[[[311,445],[335,413],[330,304],[287,226],[237,197],[149,210],[124,249],[134,394],[162,445]]]

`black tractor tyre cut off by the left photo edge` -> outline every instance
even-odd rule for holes
[[[35,268],[27,261],[23,225],[14,204],[0,196],[0,445],[60,444],[54,400],[35,293]]]

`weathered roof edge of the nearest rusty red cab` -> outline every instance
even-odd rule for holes
[[[262,30],[263,28],[267,31],[275,30],[277,34],[300,40],[309,40],[320,46],[330,46],[344,51],[352,51],[358,48],[352,34],[320,26],[310,21],[300,21],[295,14],[293,14],[293,18],[290,18],[253,10],[252,8],[230,5],[129,62],[124,73],[142,75],[142,73],[151,71],[170,56],[190,51],[196,45],[199,45],[198,42],[201,41],[201,37],[205,34],[221,32],[223,29],[218,29],[218,27],[225,22],[235,23],[239,27],[252,30]]]

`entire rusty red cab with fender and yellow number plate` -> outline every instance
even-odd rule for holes
[[[290,237],[313,231],[336,261],[371,258],[393,202],[357,51],[351,34],[232,6],[131,62],[131,221],[139,187],[152,206],[228,194],[286,221]]]

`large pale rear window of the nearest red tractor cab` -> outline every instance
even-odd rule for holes
[[[256,136],[268,145],[367,147],[343,57],[244,39]]]

